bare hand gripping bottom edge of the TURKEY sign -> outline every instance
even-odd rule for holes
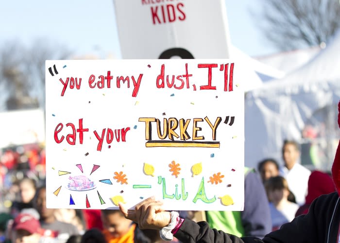
[[[163,203],[149,197],[136,204],[135,210],[126,209],[119,203],[119,210],[125,218],[135,221],[141,229],[161,229],[169,225],[171,221],[170,212],[164,211]]]

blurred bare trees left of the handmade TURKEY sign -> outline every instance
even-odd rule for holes
[[[17,41],[0,49],[0,85],[5,88],[7,107],[24,108],[30,100],[45,106],[45,61],[67,59],[68,48],[39,39],[30,47]],[[3,96],[3,95],[2,95]],[[37,105],[37,104],[36,104]]]

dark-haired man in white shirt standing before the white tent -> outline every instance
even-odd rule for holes
[[[280,174],[286,178],[288,187],[295,196],[296,203],[303,205],[311,172],[298,163],[300,157],[299,145],[295,141],[285,140],[282,147],[282,157],[285,165],[280,169]]]

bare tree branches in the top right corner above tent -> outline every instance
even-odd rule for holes
[[[339,29],[339,0],[265,0],[265,36],[283,51],[320,45]]]

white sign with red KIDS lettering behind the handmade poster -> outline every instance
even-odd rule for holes
[[[229,58],[224,0],[114,0],[124,59]]]

